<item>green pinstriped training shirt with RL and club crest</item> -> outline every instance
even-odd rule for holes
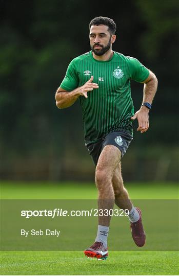
[[[70,62],[60,87],[72,91],[84,85],[91,76],[99,88],[89,91],[87,99],[79,97],[86,144],[114,131],[132,135],[130,118],[134,107],[130,79],[143,82],[149,76],[149,70],[133,57],[114,52],[110,60],[98,61],[90,51]]]

